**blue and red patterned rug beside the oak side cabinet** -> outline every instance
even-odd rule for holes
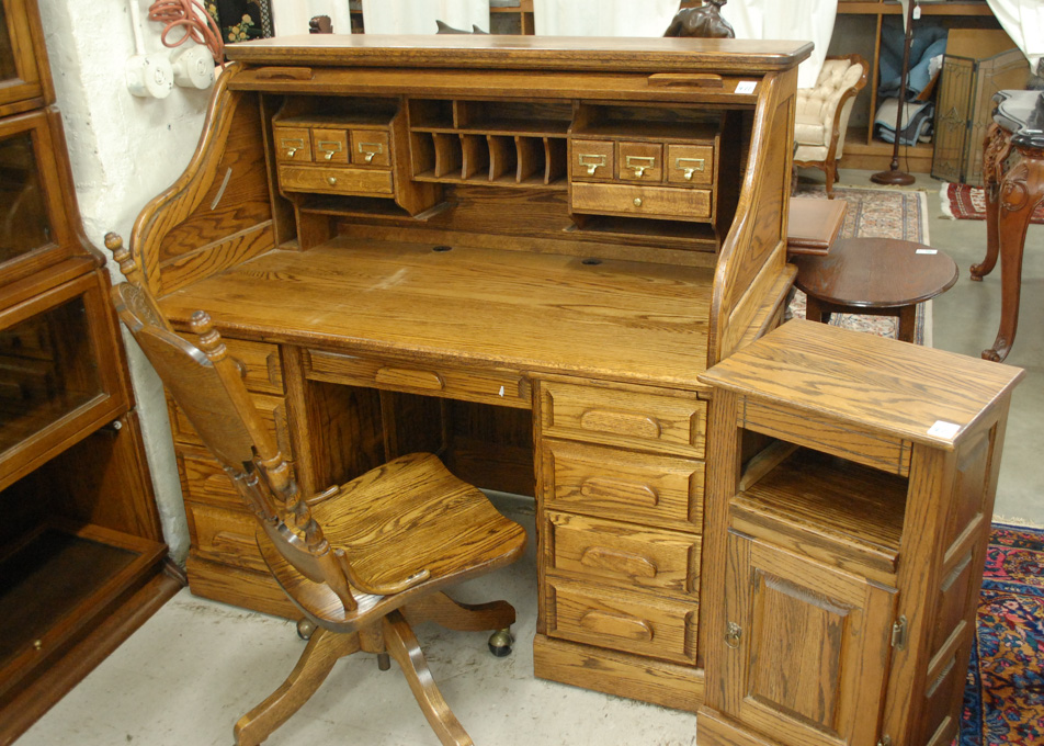
[[[958,746],[1044,744],[1044,530],[994,524]]]

